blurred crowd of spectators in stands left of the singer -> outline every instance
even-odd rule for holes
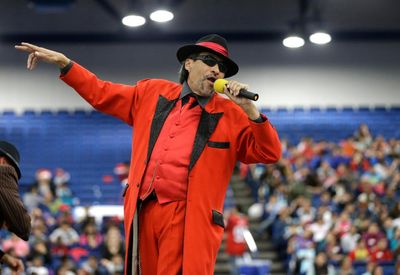
[[[77,218],[73,208],[79,200],[69,180],[61,168],[54,175],[49,169],[37,171],[36,182],[23,195],[32,218],[29,241],[3,230],[2,249],[24,261],[26,274],[123,274],[122,221],[108,217],[99,223],[88,213]],[[1,274],[12,273],[5,267]]]

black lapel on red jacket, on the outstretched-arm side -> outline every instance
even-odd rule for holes
[[[171,112],[172,108],[179,98],[174,100],[168,100],[162,95],[158,97],[156,112],[154,113],[153,122],[151,123],[150,139],[149,139],[149,149],[147,151],[147,161],[150,159],[151,153],[153,152],[154,145],[156,144],[158,135],[161,132],[161,128],[164,125],[168,114]]]

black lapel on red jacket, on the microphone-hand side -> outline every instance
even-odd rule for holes
[[[224,113],[210,114],[205,110],[201,113],[199,128],[194,139],[192,156],[190,157],[189,171],[192,170],[196,161],[199,159],[208,139],[217,127],[219,119]]]

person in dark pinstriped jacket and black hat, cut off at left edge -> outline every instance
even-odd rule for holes
[[[0,141],[0,228],[5,227],[27,241],[31,232],[31,218],[18,193],[20,178],[17,148],[7,141]],[[0,263],[7,264],[18,274],[24,270],[20,259],[2,250],[0,250]]]

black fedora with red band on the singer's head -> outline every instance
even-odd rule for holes
[[[211,52],[222,59],[228,70],[225,77],[235,75],[239,66],[229,58],[229,51],[226,39],[218,34],[209,34],[197,40],[196,44],[185,45],[178,49],[176,56],[179,62],[183,62],[188,56],[194,53]]]

